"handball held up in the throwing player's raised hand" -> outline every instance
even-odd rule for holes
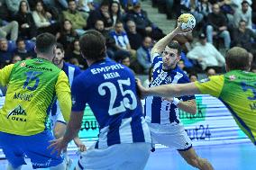
[[[196,26],[196,19],[193,14],[183,13],[178,17],[178,23],[180,23],[182,31],[193,30]]]

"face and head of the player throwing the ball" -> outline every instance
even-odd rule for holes
[[[169,49],[169,47],[166,47],[162,52],[162,64],[165,69],[176,67],[179,59],[178,49]]]

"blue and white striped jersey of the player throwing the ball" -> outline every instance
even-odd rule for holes
[[[167,84],[184,84],[189,82],[186,74],[177,66],[172,70],[162,69],[162,57],[160,54],[153,54],[153,75],[150,86]],[[182,101],[195,99],[194,95],[186,95],[178,98]],[[147,122],[159,124],[179,124],[178,108],[175,104],[162,100],[161,97],[147,97],[145,99],[144,112]]]

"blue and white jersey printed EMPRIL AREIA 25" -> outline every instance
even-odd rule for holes
[[[75,78],[71,93],[72,111],[83,112],[88,103],[94,112],[100,130],[96,148],[151,142],[135,78],[128,67],[110,59],[98,61]]]

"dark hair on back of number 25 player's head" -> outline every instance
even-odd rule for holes
[[[105,37],[99,31],[87,31],[81,36],[79,45],[84,58],[95,61],[105,58]]]

